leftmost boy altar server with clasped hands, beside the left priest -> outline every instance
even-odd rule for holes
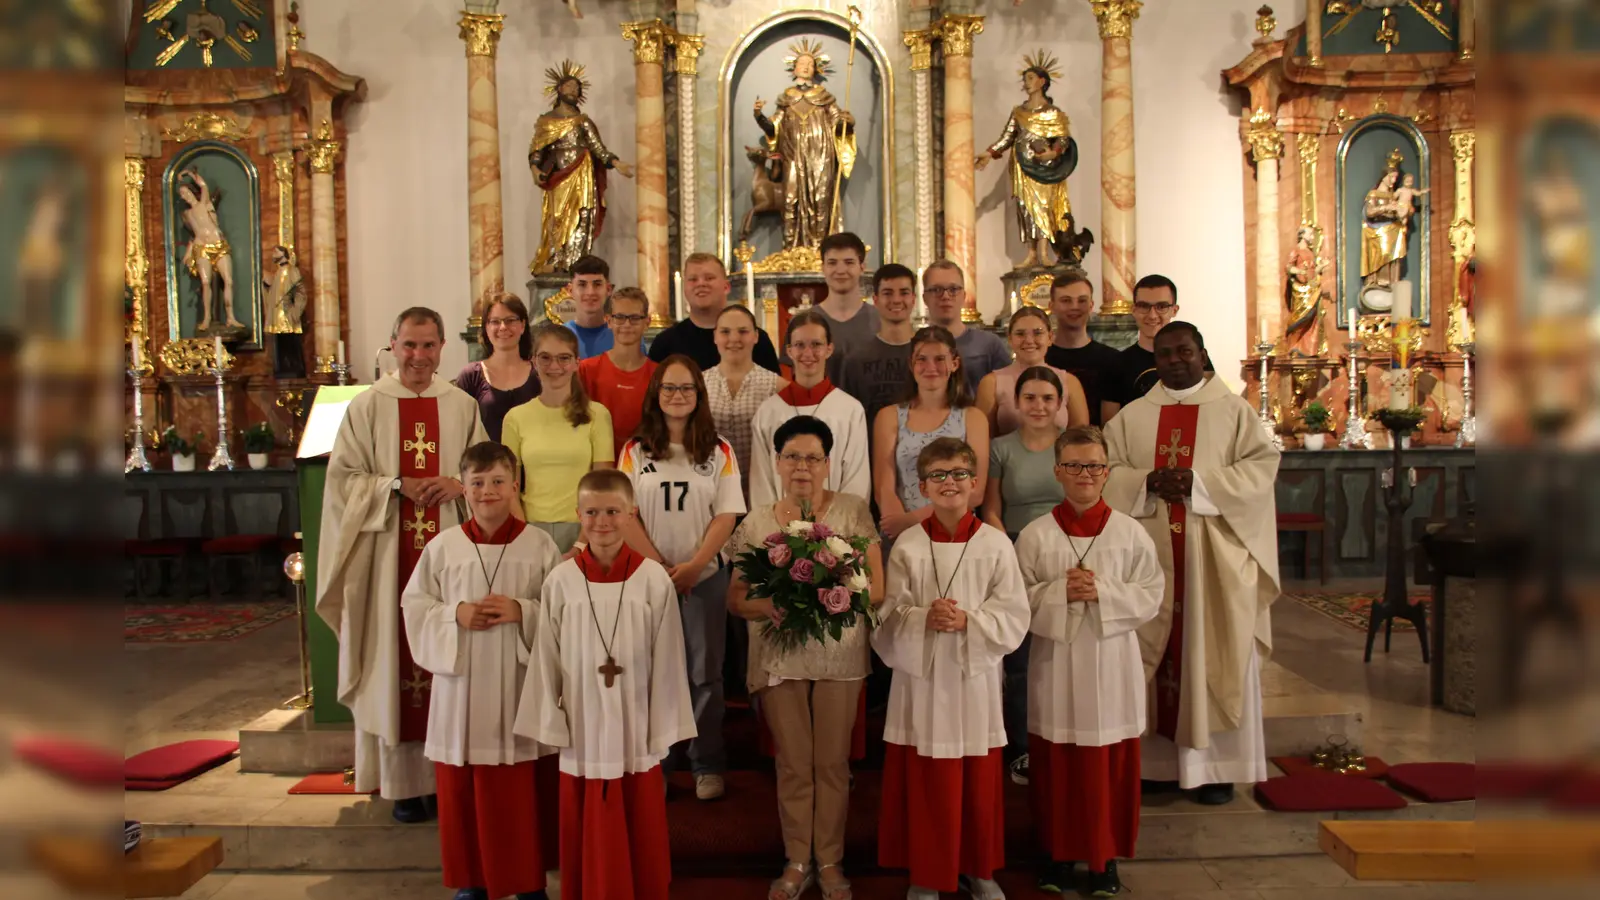
[[[416,663],[434,674],[422,753],[438,783],[445,886],[456,900],[544,900],[557,850],[555,756],[515,737],[539,588],[555,541],[512,516],[517,458],[501,444],[461,456],[472,517],[429,541],[402,596]]]

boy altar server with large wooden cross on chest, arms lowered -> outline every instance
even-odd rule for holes
[[[560,748],[562,898],[666,900],[672,881],[661,761],[694,737],[678,593],[622,541],[634,487],[578,482],[589,546],[544,581],[538,650],[515,732]]]

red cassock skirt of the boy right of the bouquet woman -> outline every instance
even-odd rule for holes
[[[955,759],[883,749],[878,865],[909,868],[910,882],[931,890],[957,890],[963,874],[994,878],[1005,866],[1000,748]]]

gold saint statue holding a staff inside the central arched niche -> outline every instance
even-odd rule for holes
[[[784,250],[814,248],[838,223],[834,187],[854,168],[856,119],[819,83],[832,67],[821,43],[800,40],[789,53],[784,64],[794,85],[779,94],[771,119],[762,114],[766,101],[757,98],[755,123],[766,135],[768,152],[782,163]]]

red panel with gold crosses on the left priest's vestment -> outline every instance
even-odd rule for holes
[[[400,477],[438,476],[438,400],[403,397],[400,404]],[[422,548],[438,536],[438,508],[418,506],[400,495],[400,589],[422,559]],[[400,602],[400,597],[395,597]],[[427,740],[427,706],[434,676],[411,658],[411,644],[400,629],[400,740]]]

